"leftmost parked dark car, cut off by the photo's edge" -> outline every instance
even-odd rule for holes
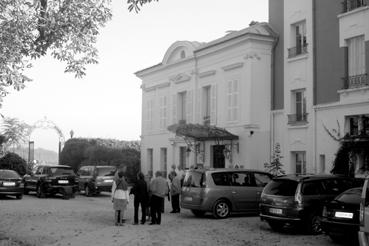
[[[22,178],[16,171],[0,169],[0,195],[12,195],[22,199]]]

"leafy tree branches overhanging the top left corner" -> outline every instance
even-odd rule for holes
[[[97,63],[99,29],[111,19],[111,0],[1,0],[0,100],[7,88],[24,88],[32,59],[48,52],[65,72],[85,75]],[[0,101],[1,103],[1,101]]]

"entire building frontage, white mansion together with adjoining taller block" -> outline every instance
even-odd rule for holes
[[[287,173],[329,173],[351,143],[359,150],[350,165],[369,170],[360,150],[369,141],[368,71],[368,0],[270,0],[268,23],[175,42],[160,64],[136,73],[142,169],[263,169],[279,144]],[[176,124],[236,137],[191,142],[168,131]]]

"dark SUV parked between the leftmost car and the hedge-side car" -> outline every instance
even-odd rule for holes
[[[39,198],[61,194],[67,199],[74,197],[78,189],[76,174],[71,167],[64,165],[38,166],[34,173],[25,175],[23,179],[24,194],[35,191]]]

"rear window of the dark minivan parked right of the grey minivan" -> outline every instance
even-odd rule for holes
[[[265,186],[264,193],[277,196],[294,196],[296,193],[297,184],[298,182],[294,180],[272,180],[269,184],[267,184],[267,186]]]

